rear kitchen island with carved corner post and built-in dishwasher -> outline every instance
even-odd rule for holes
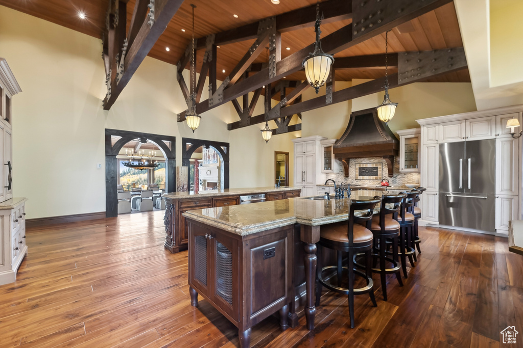
[[[266,200],[279,200],[300,197],[300,189],[296,187],[255,187],[228,188],[224,190],[208,190],[198,193],[170,192],[165,198],[165,243],[171,253],[187,249],[188,233],[184,212],[192,209],[228,207],[240,204],[240,197],[246,195],[265,195]]]

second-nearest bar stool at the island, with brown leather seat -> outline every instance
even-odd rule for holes
[[[400,236],[401,225],[399,222],[397,222],[397,214],[400,211],[401,202],[405,197],[407,197],[407,194],[405,193],[381,196],[380,213],[374,215],[372,218],[371,231],[374,235],[374,252],[372,253],[374,267],[372,268],[372,272],[380,273],[381,291],[383,293],[384,301],[387,301],[386,274],[394,273],[396,275],[397,282],[400,284],[400,286],[403,286],[400,271],[401,267],[398,260],[397,242],[397,239]],[[392,217],[388,217],[386,215],[392,215]],[[387,253],[385,248],[387,241],[392,244],[392,258],[386,256]],[[362,254],[358,254],[357,257],[360,255]],[[379,268],[376,268],[377,260],[380,262]],[[392,268],[386,268],[386,261],[392,263]],[[358,268],[363,267],[360,263],[356,263],[356,265]]]

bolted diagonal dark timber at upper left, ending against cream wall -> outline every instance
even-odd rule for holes
[[[142,23],[134,42],[127,49],[127,54],[123,61],[123,71],[119,71],[119,80],[117,81],[115,78],[108,82],[110,83],[111,93],[108,93],[104,99],[104,110],[109,110],[112,104],[115,103],[123,88],[127,86],[127,83],[143,62],[143,59],[149,54],[160,35],[167,28],[181,3],[183,3],[183,0],[154,1],[154,22],[151,26],[149,20]]]

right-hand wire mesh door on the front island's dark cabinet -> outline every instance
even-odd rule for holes
[[[233,319],[238,319],[238,248],[236,239],[214,233],[211,237],[214,267],[214,302]]]

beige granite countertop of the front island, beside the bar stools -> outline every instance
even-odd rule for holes
[[[365,190],[353,193],[353,199],[370,199],[383,191]],[[237,235],[248,235],[276,227],[300,223],[319,226],[348,219],[350,199],[311,200],[289,198],[186,211],[183,215]],[[377,212],[377,206],[374,212]]]

